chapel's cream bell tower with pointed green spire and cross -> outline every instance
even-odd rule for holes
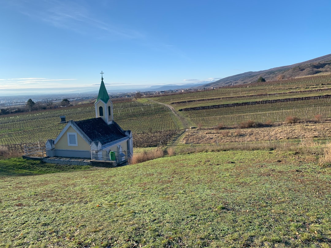
[[[95,118],[101,117],[108,125],[113,123],[113,103],[110,100],[105,84],[103,82],[103,74],[101,71],[101,85],[99,89],[98,98],[94,103]]]

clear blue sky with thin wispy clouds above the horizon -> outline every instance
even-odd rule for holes
[[[0,96],[187,84],[331,53],[331,1],[0,0]]]

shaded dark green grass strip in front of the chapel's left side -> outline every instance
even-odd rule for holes
[[[32,176],[59,172],[72,172],[90,169],[91,166],[59,165],[23,158],[0,159],[0,177]]]

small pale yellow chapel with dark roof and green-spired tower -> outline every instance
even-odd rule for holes
[[[114,121],[113,103],[103,77],[94,107],[95,118],[70,120],[55,140],[47,140],[47,156],[111,160],[117,164],[132,158],[132,132]]]

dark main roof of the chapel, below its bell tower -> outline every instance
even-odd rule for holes
[[[127,137],[115,121],[108,125],[101,117],[75,123],[87,137],[92,141],[99,141],[102,145]]]

